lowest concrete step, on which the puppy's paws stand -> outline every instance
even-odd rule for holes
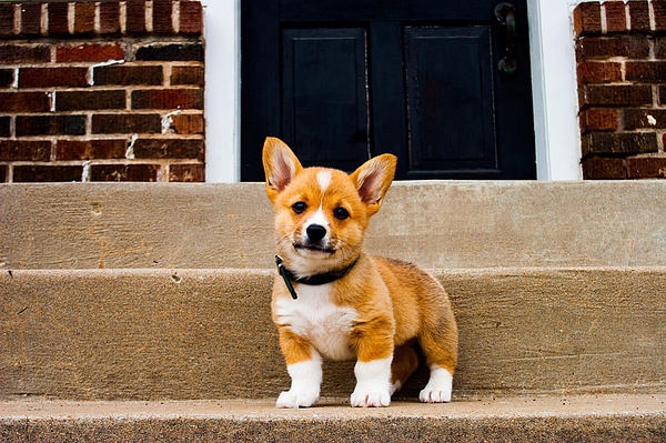
[[[509,397],[387,409],[331,401],[0,403],[0,441],[19,442],[664,442],[666,395]]]

